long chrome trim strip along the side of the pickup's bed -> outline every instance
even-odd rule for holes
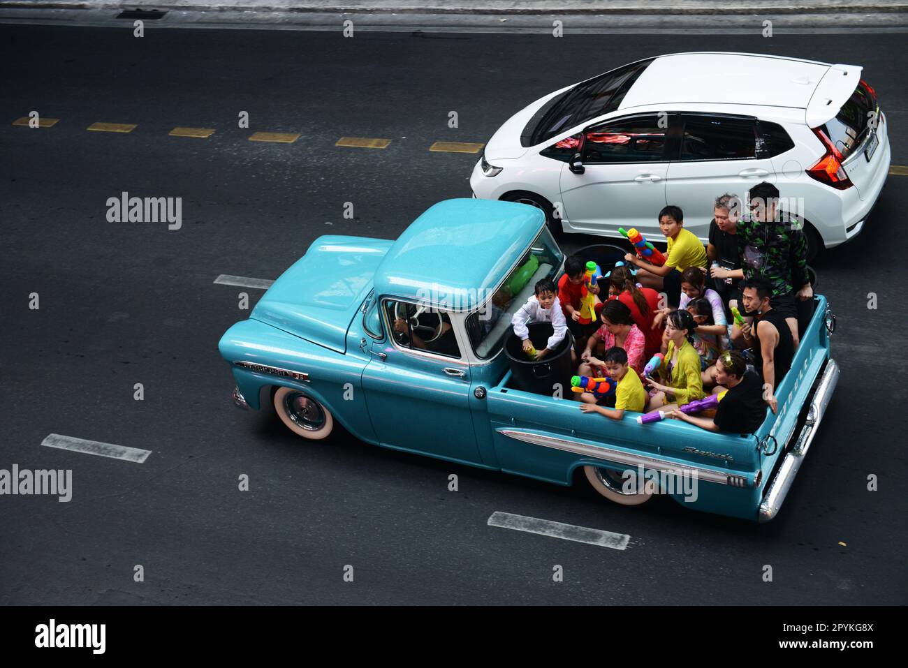
[[[721,471],[717,471],[714,468],[698,467],[696,465],[678,466],[675,462],[670,462],[661,457],[652,457],[651,455],[633,455],[631,453],[624,452],[623,450],[617,450],[614,447],[593,446],[577,439],[547,436],[524,429],[508,429],[507,427],[500,427],[496,429],[496,431],[498,431],[499,434],[503,434],[504,436],[515,438],[518,441],[523,441],[524,443],[531,443],[534,446],[552,447],[556,450],[573,452],[575,455],[594,457],[596,459],[603,459],[625,466],[651,468],[663,473],[673,473],[675,475],[682,476],[692,475],[696,473],[697,479],[704,480],[705,482],[709,483],[716,483],[718,485],[728,485],[733,487],[750,486],[750,483],[748,482],[749,474],[727,474],[722,473]],[[754,474],[754,479],[756,479],[756,474]]]

